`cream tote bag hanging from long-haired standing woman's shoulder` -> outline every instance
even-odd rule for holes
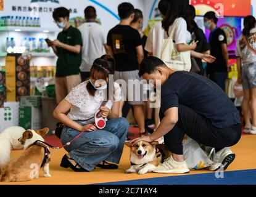
[[[173,71],[191,70],[191,52],[178,52],[176,44],[173,42],[173,34],[176,29],[176,21],[173,23],[173,29],[167,39],[163,39],[161,60]]]

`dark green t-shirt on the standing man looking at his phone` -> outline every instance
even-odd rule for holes
[[[70,26],[67,30],[61,31],[57,39],[71,46],[75,46],[80,44],[83,46],[83,40],[81,33],[78,29]],[[82,61],[82,54],[75,54],[68,50],[62,49],[61,47],[57,47],[59,58],[57,60],[57,68],[56,68],[56,77],[64,77],[70,76],[73,74],[80,73],[80,65]]]

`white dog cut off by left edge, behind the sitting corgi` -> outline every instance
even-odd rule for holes
[[[18,141],[25,129],[22,127],[9,127],[0,133],[0,169],[10,161],[12,149],[22,149],[23,145]]]

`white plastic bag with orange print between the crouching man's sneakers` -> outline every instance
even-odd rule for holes
[[[210,147],[207,147],[209,149]],[[192,140],[188,135],[183,140],[183,155],[188,168],[191,170],[204,169],[213,164],[210,159],[215,148],[210,148],[209,154],[206,153],[195,140]]]

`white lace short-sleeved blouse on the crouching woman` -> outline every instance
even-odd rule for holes
[[[68,118],[72,120],[86,120],[93,118],[94,114],[101,107],[102,101],[104,101],[105,90],[97,90],[93,96],[89,94],[86,88],[87,84],[88,81],[82,82],[74,87],[67,97],[65,97],[65,100],[73,105],[67,115]],[[121,88],[116,82],[114,83],[114,89],[114,102],[122,100]],[[105,107],[111,109],[112,105],[113,101],[109,100]],[[93,123],[93,119],[91,119],[89,123]]]

